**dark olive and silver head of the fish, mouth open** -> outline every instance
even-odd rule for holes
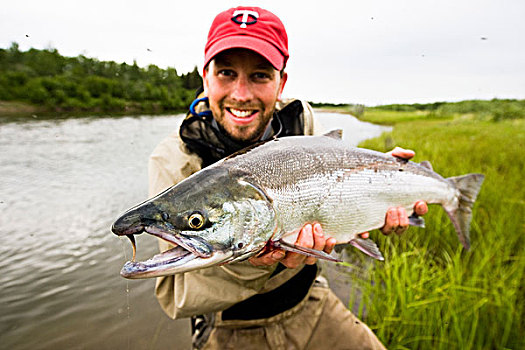
[[[122,268],[125,278],[151,278],[242,261],[264,248],[276,229],[271,200],[244,173],[221,166],[201,170],[125,212],[118,236],[147,233],[174,248]],[[199,222],[192,218],[199,217]]]

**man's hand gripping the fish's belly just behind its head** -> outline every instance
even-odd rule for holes
[[[328,254],[330,254],[334,249],[335,243],[335,238],[326,237],[324,235],[321,224],[319,223],[304,225],[297,236],[297,241],[295,242],[295,244],[298,246],[322,250]],[[261,256],[252,257],[249,259],[249,261],[254,266],[273,265],[280,261],[284,266],[294,269],[301,266],[302,264],[313,265],[317,259],[299,253],[286,252],[282,249],[276,249],[271,250]]]

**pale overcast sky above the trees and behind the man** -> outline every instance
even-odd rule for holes
[[[0,47],[202,69],[209,26],[237,5],[287,28],[284,95],[316,102],[525,98],[524,0],[11,0]]]

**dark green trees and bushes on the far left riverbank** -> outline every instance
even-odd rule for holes
[[[186,110],[201,86],[197,67],[140,68],[56,49],[26,52],[13,43],[0,49],[0,101],[25,102],[47,111],[162,113]]]

